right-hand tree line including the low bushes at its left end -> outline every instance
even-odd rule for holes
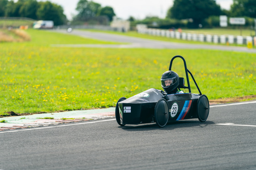
[[[140,21],[134,20],[133,17],[129,20],[134,25],[144,23],[155,28],[212,28],[219,27],[219,15],[244,17],[245,26],[255,25],[256,0],[233,0],[230,10],[221,9],[215,0],[174,0],[165,19],[151,16]]]

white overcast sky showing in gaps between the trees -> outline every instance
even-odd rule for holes
[[[46,1],[46,0],[38,0]],[[55,4],[61,5],[64,9],[64,14],[69,20],[73,15],[76,15],[76,5],[79,0],[48,0]],[[124,20],[129,16],[135,19],[144,19],[146,16],[159,16],[165,18],[167,10],[173,5],[173,0],[92,0],[101,4],[101,7],[111,6],[114,9],[118,18]],[[216,0],[222,9],[229,10],[233,0]]]

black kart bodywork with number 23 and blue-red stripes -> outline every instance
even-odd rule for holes
[[[197,118],[198,94],[167,95],[169,121]],[[121,124],[142,124],[154,121],[155,105],[164,95],[157,89],[149,89],[118,103]]]

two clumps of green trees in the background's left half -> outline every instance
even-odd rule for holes
[[[76,10],[78,14],[73,17],[74,22],[86,21],[88,19],[97,20],[100,18],[99,16],[104,16],[104,20],[109,22],[112,21],[115,15],[112,7],[101,7],[100,4],[88,0],[79,0]],[[54,25],[64,25],[68,22],[62,6],[50,1],[43,2],[37,0],[18,0],[17,2],[13,0],[0,0],[0,17],[27,17],[34,20],[53,20]]]

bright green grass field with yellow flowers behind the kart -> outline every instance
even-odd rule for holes
[[[107,44],[74,35],[27,30],[30,42],[0,44],[0,115],[115,106],[149,88],[174,55],[182,55],[209,100],[256,94],[256,54],[219,50],[51,47]],[[184,76],[181,60],[172,70]],[[192,85],[192,92],[197,93]]]

